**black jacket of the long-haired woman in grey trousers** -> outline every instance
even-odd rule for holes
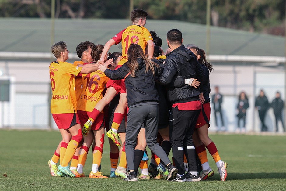
[[[104,74],[112,80],[120,80],[125,78],[125,86],[127,92],[128,107],[144,102],[159,102],[158,92],[155,88],[154,75],[149,71],[145,74],[146,65],[142,58],[137,59],[139,68],[135,71],[136,77],[128,75],[130,69],[127,64],[117,70],[106,69]],[[127,61],[128,62],[128,61]],[[160,75],[160,69],[154,67],[155,75]]]

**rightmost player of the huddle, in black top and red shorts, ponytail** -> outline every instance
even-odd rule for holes
[[[194,145],[196,147],[197,154],[202,164],[203,171],[201,173],[201,178],[203,180],[214,175],[214,171],[208,164],[207,152],[209,153],[215,160],[215,163],[218,167],[218,173],[222,181],[224,181],[227,177],[226,162],[222,161],[218,150],[215,146],[215,143],[208,136],[208,128],[210,127],[210,115],[211,115],[211,106],[210,106],[210,97],[209,94],[211,92],[210,88],[210,79],[209,75],[214,70],[211,63],[208,63],[206,59],[206,55],[203,49],[198,48],[196,45],[190,45],[189,49],[196,55],[197,60],[201,63],[201,66],[204,69],[204,78],[203,85],[200,93],[200,100],[203,103],[201,113],[197,119],[193,139]]]

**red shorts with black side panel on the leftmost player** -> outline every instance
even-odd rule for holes
[[[52,114],[59,129],[69,129],[75,124],[81,124],[78,114]]]

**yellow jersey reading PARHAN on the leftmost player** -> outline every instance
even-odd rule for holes
[[[75,76],[82,67],[68,62],[52,62],[50,64],[52,88],[51,113],[65,114],[76,112]]]

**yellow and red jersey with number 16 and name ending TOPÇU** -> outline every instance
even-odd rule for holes
[[[89,74],[82,74],[82,92],[78,100],[77,109],[92,112],[96,103],[102,99],[108,77],[97,70]]]

